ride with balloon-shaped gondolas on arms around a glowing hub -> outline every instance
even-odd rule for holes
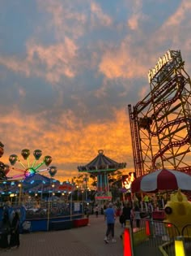
[[[29,156],[31,155],[30,150],[23,149],[21,150],[21,156],[24,162],[21,162],[19,156],[17,154],[11,154],[9,157],[9,162],[11,163],[11,167],[0,162],[0,171],[2,172],[2,176],[0,176],[0,180],[25,180],[30,176],[36,175],[36,173],[42,171],[48,171],[51,177],[55,176],[57,173],[57,167],[49,166],[52,162],[52,157],[49,155],[45,155],[45,157],[40,161],[42,156],[41,150],[33,151],[33,160],[30,161]],[[19,165],[19,167],[16,166]],[[43,167],[44,166],[44,167]],[[9,173],[9,176],[7,176]]]

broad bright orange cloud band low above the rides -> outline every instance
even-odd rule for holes
[[[67,180],[77,176],[77,167],[89,163],[96,158],[98,150],[117,162],[126,162],[129,170],[134,169],[132,161],[131,138],[129,131],[129,117],[125,110],[117,111],[113,108],[114,118],[104,123],[92,123],[84,126],[79,117],[72,111],[63,113],[57,124],[49,124],[43,115],[22,115],[16,110],[11,115],[2,117],[2,127],[6,126],[5,154],[2,162],[8,163],[10,154],[18,154],[28,148],[40,149],[43,156],[51,155],[53,165],[57,166],[57,176]],[[0,128],[1,134],[5,131]],[[32,154],[32,153],[31,153]],[[31,162],[33,161],[31,155]],[[20,167],[20,166],[19,166]]]

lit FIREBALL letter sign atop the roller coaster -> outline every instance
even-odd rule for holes
[[[158,63],[156,63],[155,67],[150,69],[148,72],[148,80],[149,83],[151,83],[151,80],[155,77],[156,73],[159,72],[159,70],[170,60],[172,60],[172,51],[168,50],[166,54],[163,55],[163,57],[159,58]]]

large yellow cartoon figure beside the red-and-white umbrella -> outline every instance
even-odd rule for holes
[[[166,218],[169,236],[184,235],[184,227],[191,224],[191,202],[188,201],[185,194],[178,190],[171,195],[171,200],[165,205]],[[172,225],[171,225],[172,223]],[[191,236],[191,225],[186,228],[186,236]]]

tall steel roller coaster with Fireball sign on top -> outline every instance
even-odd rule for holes
[[[136,176],[159,167],[191,173],[191,81],[180,51],[168,50],[148,73],[151,92],[129,121]]]

